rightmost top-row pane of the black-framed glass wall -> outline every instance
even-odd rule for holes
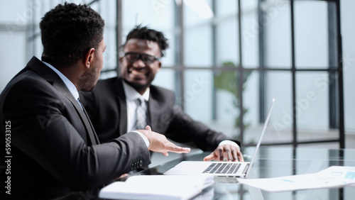
[[[329,66],[327,5],[327,1],[295,1],[297,69],[327,69]]]

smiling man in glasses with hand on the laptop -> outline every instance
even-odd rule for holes
[[[144,99],[146,124],[178,143],[213,151],[204,160],[244,161],[239,141],[192,120],[175,106],[173,91],[151,85],[160,70],[160,57],[168,48],[163,33],[136,26],[126,37],[120,52],[121,77],[99,80],[92,93],[83,94],[99,140],[106,142],[136,128],[136,99]]]

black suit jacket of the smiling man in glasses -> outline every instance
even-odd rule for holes
[[[231,140],[187,116],[175,105],[173,91],[153,85],[150,91],[148,113],[153,131],[206,151],[217,148],[222,140]],[[126,133],[126,95],[121,78],[99,80],[94,91],[80,95],[100,141],[107,142]],[[240,145],[239,141],[233,141]]]

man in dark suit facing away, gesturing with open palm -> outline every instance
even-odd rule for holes
[[[65,3],[40,30],[42,61],[33,57],[0,94],[0,199],[95,199],[104,184],[148,165],[149,150],[190,151],[149,126],[100,144],[78,91],[92,90],[102,70],[104,21]]]

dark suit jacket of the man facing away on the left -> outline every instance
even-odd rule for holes
[[[5,198],[55,199],[74,192],[94,199],[103,184],[150,163],[136,133],[99,144],[62,79],[35,57],[2,91],[0,108],[1,165],[11,168],[1,170],[1,194],[8,190],[5,180],[11,181]]]

